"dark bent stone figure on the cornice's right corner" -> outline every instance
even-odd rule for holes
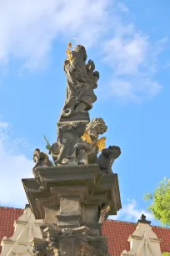
[[[100,156],[98,156],[97,164],[100,166],[100,171],[104,173],[112,172],[112,164],[118,156],[120,156],[121,150],[119,146],[109,146],[104,148]]]

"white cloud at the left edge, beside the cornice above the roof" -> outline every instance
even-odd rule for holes
[[[0,122],[0,205],[24,207],[28,203],[21,179],[32,177],[33,162],[18,152],[23,140],[13,140],[6,122]]]

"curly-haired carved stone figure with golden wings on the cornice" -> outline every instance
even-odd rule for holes
[[[97,162],[97,153],[105,147],[106,137],[98,139],[107,131],[107,125],[102,118],[94,118],[87,126],[82,138],[75,145],[78,164],[93,164]]]

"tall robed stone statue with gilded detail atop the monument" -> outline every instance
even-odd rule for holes
[[[99,79],[99,73],[94,71],[95,64],[91,59],[87,64],[85,63],[87,53],[82,45],[77,45],[69,53],[69,58],[64,62],[64,71],[67,75],[67,97],[59,122],[72,115],[81,118],[78,114],[86,114],[92,109],[92,103],[97,100],[93,91],[97,88]]]

